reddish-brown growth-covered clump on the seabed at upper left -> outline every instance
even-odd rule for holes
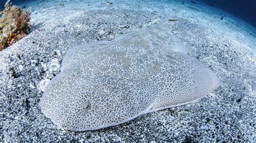
[[[5,9],[0,13],[0,51],[14,44],[29,33],[31,28],[30,11],[26,11],[19,6],[10,5],[8,0]]]

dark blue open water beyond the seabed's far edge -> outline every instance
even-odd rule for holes
[[[0,9],[4,9],[4,3],[6,1],[7,0],[0,0]],[[29,1],[33,0],[12,0],[11,2],[13,4],[18,4],[21,2]],[[223,9],[227,12],[230,12],[235,17],[244,19],[246,22],[256,27],[256,0],[180,0],[180,3],[184,2],[190,4],[198,4],[199,1],[215,8]]]

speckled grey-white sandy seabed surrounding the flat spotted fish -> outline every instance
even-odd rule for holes
[[[201,3],[112,2],[21,5],[31,8],[33,28],[0,52],[0,141],[256,140],[255,27]],[[38,106],[43,83],[59,73],[70,47],[113,40],[165,18],[179,19],[171,23],[172,33],[217,74],[217,90],[196,103],[97,131],[61,130],[43,115]]]

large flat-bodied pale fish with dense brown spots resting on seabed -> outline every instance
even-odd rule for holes
[[[162,23],[70,48],[39,105],[60,128],[97,130],[197,101],[219,84]]]

